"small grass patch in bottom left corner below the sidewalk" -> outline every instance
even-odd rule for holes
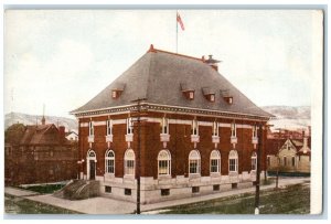
[[[75,211],[9,194],[4,194],[4,212],[7,214],[79,214]]]

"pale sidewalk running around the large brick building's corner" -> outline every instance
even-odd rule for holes
[[[310,181],[310,178],[281,178],[279,179],[278,185],[281,188],[285,185],[303,183],[305,181]],[[273,188],[275,188],[275,183],[270,185],[261,185],[260,190],[273,189]],[[35,192],[19,190],[13,188],[4,188],[4,192],[8,194],[23,196],[29,200],[33,200],[33,201],[68,209],[72,211],[86,213],[86,214],[130,214],[136,210],[136,203],[114,200],[109,198],[99,196],[99,198],[93,198],[87,200],[70,201],[70,200],[55,198],[52,194],[40,195]],[[153,204],[141,204],[141,212],[143,213],[150,210],[160,210],[173,205],[195,203],[195,202],[207,201],[212,199],[231,196],[231,195],[242,194],[242,193],[250,193],[250,192],[255,192],[255,186],[236,189],[236,190],[220,192],[216,194],[207,194],[202,196],[166,201],[166,202],[153,203]],[[147,212],[146,214],[150,214],[150,213]]]

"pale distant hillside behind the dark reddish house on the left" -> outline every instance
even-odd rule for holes
[[[12,124],[24,124],[24,125],[35,125],[38,121],[41,125],[42,116],[40,115],[26,115],[22,113],[10,113],[4,117],[4,129],[7,129]],[[75,119],[66,118],[66,117],[55,117],[55,116],[45,116],[46,124],[54,124],[57,126],[64,126],[65,130],[78,130],[78,122]]]

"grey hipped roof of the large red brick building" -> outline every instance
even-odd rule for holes
[[[182,94],[182,87],[194,90],[194,99]],[[111,92],[120,89],[118,98]],[[233,104],[223,99],[226,90]],[[204,93],[214,93],[215,102]],[[134,99],[147,98],[149,104],[210,109],[225,113],[273,117],[252,103],[204,60],[151,49],[104,90],[72,114],[131,105]]]

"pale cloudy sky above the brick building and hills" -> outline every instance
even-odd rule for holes
[[[73,117],[153,44],[175,52],[175,10],[7,10],[4,114]],[[179,10],[178,53],[258,106],[310,106],[322,17],[314,10]],[[318,55],[322,56],[322,55]],[[319,66],[319,64],[318,64]]]

